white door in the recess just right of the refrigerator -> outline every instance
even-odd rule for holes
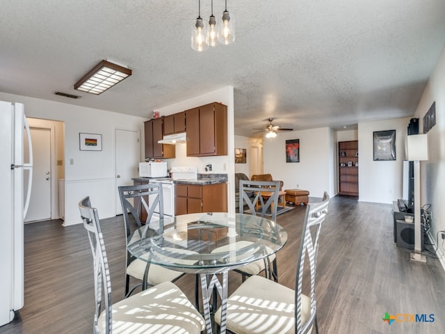
[[[51,129],[31,127],[30,130],[34,158],[33,184],[25,223],[51,219]],[[26,141],[24,145],[27,152]],[[25,179],[24,189],[27,186]]]

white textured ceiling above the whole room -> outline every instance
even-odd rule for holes
[[[219,19],[224,1],[213,2]],[[0,91],[149,118],[230,85],[238,135],[269,117],[342,128],[412,116],[445,45],[444,0],[228,0],[227,10],[236,41],[199,53],[197,1],[1,1]],[[74,90],[105,58],[133,75],[99,96]]]

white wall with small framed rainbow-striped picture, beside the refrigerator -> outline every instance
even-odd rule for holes
[[[6,93],[0,100],[22,102],[28,117],[65,122],[65,225],[81,223],[77,205],[84,196],[90,196],[100,218],[115,216],[115,129],[143,133],[145,119]],[[102,151],[79,150],[79,132],[102,134]]]

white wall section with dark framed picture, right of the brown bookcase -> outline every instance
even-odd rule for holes
[[[402,198],[403,159],[410,118],[359,123],[359,200],[392,203]],[[396,160],[374,161],[373,132],[396,130]]]

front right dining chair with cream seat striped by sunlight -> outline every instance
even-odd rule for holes
[[[322,202],[307,205],[295,288],[289,289],[262,276],[251,276],[227,299],[226,326],[229,331],[238,334],[306,334],[315,325],[318,334],[316,260],[321,223],[325,220],[329,200],[325,192]],[[309,273],[303,276],[306,259]],[[309,294],[302,294],[303,278],[306,278],[304,287]],[[215,313],[215,321],[221,324],[220,308]]]

